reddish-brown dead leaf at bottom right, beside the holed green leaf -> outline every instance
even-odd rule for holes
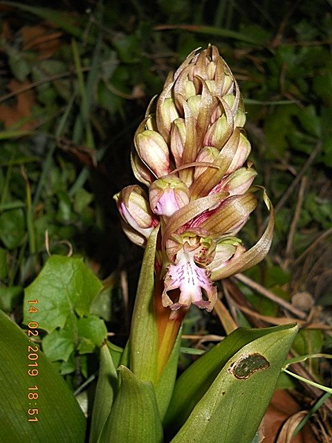
[[[301,407],[286,390],[276,390],[264,416],[264,440],[262,443],[286,443],[288,440],[277,440],[282,426],[298,413]],[[292,431],[293,433],[293,431]],[[290,443],[317,443],[310,426],[304,428]]]

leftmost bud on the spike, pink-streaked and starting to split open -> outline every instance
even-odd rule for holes
[[[127,186],[113,197],[122,219],[133,230],[148,238],[158,220],[151,212],[147,194],[140,186]]]

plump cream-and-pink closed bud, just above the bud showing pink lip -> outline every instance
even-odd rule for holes
[[[134,141],[138,155],[156,177],[171,172],[168,146],[158,132],[145,130],[136,134]]]

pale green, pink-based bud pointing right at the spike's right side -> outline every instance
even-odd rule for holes
[[[225,177],[210,193],[228,191],[230,195],[240,195],[248,191],[257,172],[252,168],[239,168]]]

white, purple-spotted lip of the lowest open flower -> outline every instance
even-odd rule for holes
[[[186,242],[176,254],[176,264],[169,264],[162,296],[164,307],[170,307],[172,311],[176,311],[181,307],[187,308],[193,303],[208,312],[212,311],[216,302],[216,287],[210,280],[210,272],[197,266],[194,262],[196,253],[197,249],[192,250]],[[180,290],[177,302],[173,302],[167,294],[167,291],[173,289]],[[208,300],[203,300],[202,289]]]

